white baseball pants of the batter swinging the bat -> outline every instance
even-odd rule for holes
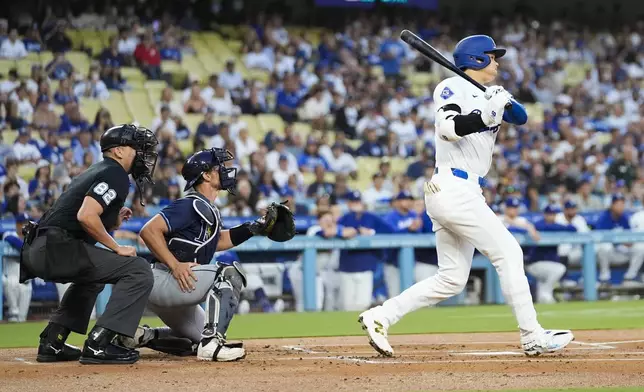
[[[425,184],[425,207],[436,232],[438,272],[382,305],[389,324],[405,314],[459,294],[465,288],[476,247],[496,268],[505,300],[523,333],[539,330],[519,243],[485,203],[478,178],[454,177],[449,168]]]

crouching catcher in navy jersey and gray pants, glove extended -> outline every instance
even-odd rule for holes
[[[232,159],[221,148],[188,158],[181,175],[189,192],[141,229],[141,239],[154,257],[148,309],[167,327],[140,326],[134,338],[119,337],[124,346],[180,356],[196,353],[204,361],[235,361],[246,355],[243,343],[226,341],[246,276],[236,261],[210,264],[211,260],[216,251],[231,249],[254,235],[288,241],[295,235],[295,220],[285,205],[273,203],[256,221],[222,230],[214,201],[220,190],[234,194],[237,169],[225,166]],[[204,301],[205,311],[200,306]]]

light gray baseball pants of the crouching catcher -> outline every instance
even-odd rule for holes
[[[206,315],[201,306],[215,284],[218,265],[200,265],[192,268],[197,276],[195,290],[184,293],[170,270],[161,263],[154,263],[154,286],[148,299],[148,309],[170,327],[172,336],[201,341]]]

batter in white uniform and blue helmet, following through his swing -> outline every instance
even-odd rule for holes
[[[497,76],[496,59],[504,54],[505,49],[497,48],[492,38],[474,35],[456,45],[454,62],[474,80],[488,84]],[[407,313],[463,291],[476,248],[496,268],[503,295],[519,324],[525,354],[563,349],[574,339],[572,332],[544,330],[539,324],[521,247],[485,203],[481,190],[501,123],[524,124],[525,108],[501,86],[488,87],[483,93],[458,76],[438,84],[434,102],[436,171],[424,189],[436,233],[438,272],[360,315],[369,343],[382,355],[392,356],[388,328]]]

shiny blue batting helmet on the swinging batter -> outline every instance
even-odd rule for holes
[[[460,40],[454,48],[454,64],[464,70],[483,69],[490,65],[490,56],[505,55],[505,49],[497,48],[494,40],[487,35],[470,35]]]

